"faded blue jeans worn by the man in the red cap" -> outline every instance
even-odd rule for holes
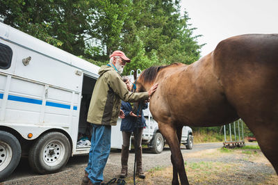
[[[92,124],[88,166],[85,168],[93,184],[104,180],[104,167],[111,148],[111,126]]]

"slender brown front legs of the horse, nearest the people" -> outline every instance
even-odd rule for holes
[[[186,176],[186,170],[184,169],[183,156],[181,154],[179,138],[177,136],[176,129],[172,125],[162,122],[158,122],[158,125],[161,134],[163,134],[167,140],[171,150],[171,161],[173,165],[172,184],[179,184],[177,172],[179,173],[181,184],[189,184]]]

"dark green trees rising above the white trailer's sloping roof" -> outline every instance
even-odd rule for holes
[[[84,37],[92,24],[90,1],[0,0],[4,23],[60,47],[84,54]]]

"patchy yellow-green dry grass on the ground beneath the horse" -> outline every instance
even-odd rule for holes
[[[223,157],[223,158],[222,158]],[[264,172],[246,170],[245,165],[252,162],[258,166],[270,166],[269,161],[263,156],[259,145],[247,145],[234,149],[211,149],[201,152],[183,154],[186,174],[190,184],[278,184],[278,177]],[[227,159],[218,161],[215,159]],[[196,159],[186,161],[186,159]],[[236,159],[231,160],[229,159]],[[240,160],[249,161],[242,163]],[[170,159],[169,159],[170,160]],[[198,161],[198,162],[195,162]],[[271,167],[272,168],[272,167]],[[172,166],[156,166],[145,172],[146,179],[136,179],[137,184],[171,184]],[[132,177],[126,179],[128,184],[133,184]]]

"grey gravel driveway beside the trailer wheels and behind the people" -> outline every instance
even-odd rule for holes
[[[222,143],[195,144],[193,146],[193,150],[186,150],[185,147],[182,147],[181,152],[183,154],[194,153],[220,147],[222,147]],[[118,174],[120,173],[120,155],[121,153],[119,150],[111,151],[106,168],[104,170],[104,182],[108,182],[113,177],[118,177]],[[198,160],[199,159],[194,159],[194,161]],[[200,160],[204,161],[206,159]],[[228,159],[217,160],[227,161]],[[50,175],[37,175],[31,171],[30,167],[28,166],[28,160],[22,159],[15,172],[13,172],[13,175],[6,179],[6,182],[3,184],[81,184],[81,179],[83,177],[84,168],[87,165],[87,161],[88,156],[74,156],[70,158],[67,166],[61,172]],[[165,148],[161,154],[152,154],[147,149],[143,150],[142,161],[145,171],[157,166],[172,166],[169,148]],[[192,162],[190,159],[186,159],[186,161]],[[133,176],[133,162],[134,153],[131,151],[131,154],[129,155],[129,176]],[[253,166],[253,168],[256,167]],[[273,168],[267,168],[266,170],[272,170],[271,172],[273,172]]]

